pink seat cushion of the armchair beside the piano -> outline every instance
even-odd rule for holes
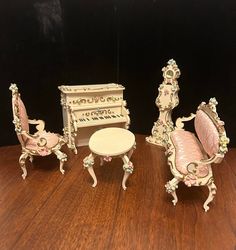
[[[44,147],[39,147],[37,145],[37,143],[40,143],[40,138],[43,138],[42,143],[44,142],[44,139],[46,139],[47,143]],[[58,142],[59,142],[59,137],[57,134],[43,131],[42,133],[39,134],[39,138],[27,140],[26,148],[29,150],[35,150],[40,155],[48,155],[51,153],[49,149],[55,147]]]

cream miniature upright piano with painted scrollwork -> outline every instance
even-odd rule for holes
[[[129,110],[120,84],[62,85],[61,105],[67,145],[88,145],[90,136],[106,127],[129,128]]]

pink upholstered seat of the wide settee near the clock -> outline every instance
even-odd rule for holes
[[[199,161],[206,158],[201,144],[196,136],[185,130],[175,130],[171,133],[171,140],[175,147],[175,164],[177,170],[186,175],[188,174],[187,166],[193,161]],[[197,167],[196,175],[204,177],[208,174],[209,165]]]

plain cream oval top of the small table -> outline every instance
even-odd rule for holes
[[[89,139],[90,150],[101,156],[125,154],[134,144],[134,134],[124,128],[104,128],[96,131]]]

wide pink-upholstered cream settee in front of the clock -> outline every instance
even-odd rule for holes
[[[178,118],[175,130],[170,133],[166,154],[174,178],[167,182],[165,187],[166,191],[173,196],[174,205],[178,201],[176,189],[180,181],[188,187],[208,187],[209,195],[203,205],[205,212],[209,210],[208,204],[214,199],[216,185],[211,164],[222,161],[229,143],[224,122],[216,112],[216,105],[215,98],[211,98],[208,104],[202,102],[196,114]],[[198,138],[183,129],[183,122],[193,118],[195,118],[194,126]]]

